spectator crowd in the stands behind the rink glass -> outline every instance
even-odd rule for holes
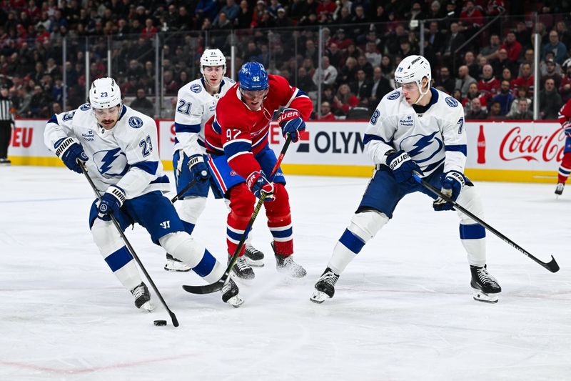
[[[106,76],[110,64],[111,75],[133,99],[133,107],[158,116],[147,98],[156,96],[156,83],[161,94],[176,99],[180,86],[200,76],[203,49],[211,46],[229,54],[234,45],[236,68],[245,61],[259,61],[314,101],[320,99],[321,112],[313,119],[368,119],[379,100],[394,89],[393,72],[400,60],[420,53],[419,20],[427,20],[423,52],[432,65],[433,86],[458,99],[467,119],[532,119],[535,91],[540,118],[557,119],[562,104],[571,99],[571,3],[566,1],[1,4],[0,85],[9,87],[18,117],[46,118],[64,111],[64,87],[66,109],[78,107],[85,102],[86,81]],[[539,89],[533,76],[534,28],[541,44]]]

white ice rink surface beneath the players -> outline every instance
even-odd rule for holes
[[[455,212],[423,194],[350,263],[336,294],[313,284],[368,179],[288,176],[300,282],[276,273],[263,213],[254,244],[266,253],[240,283],[233,309],[203,284],[163,270],[163,250],[139,226],[126,232],[180,327],[154,297],[136,310],[98,253],[87,217],[94,199],[64,168],[0,168],[0,380],[571,380],[571,189],[477,182],[485,221],[555,274],[488,233],[496,305],[475,302]],[[170,194],[172,197],[173,194]],[[226,260],[226,208],[208,199],[193,237]]]

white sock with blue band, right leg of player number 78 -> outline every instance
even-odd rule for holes
[[[464,187],[458,197],[458,204],[484,219],[484,207],[480,196],[474,187]],[[458,211],[460,217],[460,242],[468,254],[468,263],[473,266],[483,266],[486,263],[486,231],[482,225],[463,212]]]

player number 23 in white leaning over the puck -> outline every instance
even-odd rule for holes
[[[108,267],[135,297],[137,308],[151,312],[151,295],[111,222],[110,213],[123,230],[135,222],[141,224],[154,243],[206,282],[222,277],[226,266],[184,232],[173,204],[163,196],[170,187],[158,157],[155,121],[125,106],[113,79],[96,79],[89,90],[89,103],[51,117],[44,142],[72,171],[81,173],[77,159],[84,162],[96,188],[102,192],[101,202],[96,199],[91,205],[91,234]],[[241,305],[232,279],[222,293],[224,302],[234,307]]]

